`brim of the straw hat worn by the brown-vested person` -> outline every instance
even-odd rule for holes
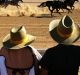
[[[24,48],[27,45],[31,44],[34,40],[35,40],[35,36],[32,36],[30,34],[27,34],[26,36],[28,38],[28,40],[26,40],[25,42],[22,42],[20,44],[13,44],[11,43],[11,39],[10,39],[10,34],[8,34],[4,39],[3,39],[3,46],[8,48],[8,49],[20,49],[20,48]]]

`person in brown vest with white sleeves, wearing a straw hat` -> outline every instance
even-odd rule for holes
[[[8,75],[38,75],[40,53],[30,44],[35,40],[24,26],[14,27],[3,39],[0,55],[5,56]]]

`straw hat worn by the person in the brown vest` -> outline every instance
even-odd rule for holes
[[[20,49],[34,40],[35,37],[27,34],[24,26],[14,27],[11,29],[10,34],[3,39],[3,46],[8,49]]]

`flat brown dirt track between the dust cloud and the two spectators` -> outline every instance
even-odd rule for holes
[[[14,26],[24,25],[28,33],[36,36],[36,40],[32,45],[37,49],[45,49],[49,48],[57,43],[50,37],[48,32],[48,26],[50,21],[53,19],[61,18],[66,15],[67,12],[61,13],[53,13],[53,17],[51,18],[49,14],[40,15],[37,17],[0,17],[0,46],[2,46],[2,39],[9,33],[10,29]],[[76,25],[80,25],[80,10],[75,9],[72,13],[67,14],[71,16]],[[77,41],[74,44],[80,45]]]

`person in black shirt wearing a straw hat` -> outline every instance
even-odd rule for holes
[[[65,15],[50,22],[49,32],[58,45],[44,53],[39,62],[40,75],[78,75],[80,46],[73,44],[80,37],[78,25]]]

